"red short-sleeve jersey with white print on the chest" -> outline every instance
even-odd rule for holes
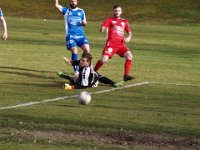
[[[107,40],[117,44],[123,43],[124,31],[127,33],[131,31],[128,21],[122,18],[110,17],[106,19],[101,26],[108,29]]]

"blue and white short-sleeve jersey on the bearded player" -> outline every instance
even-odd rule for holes
[[[65,30],[67,35],[82,36],[84,29],[82,21],[85,19],[85,12],[83,9],[76,8],[62,8],[62,14],[65,19]]]

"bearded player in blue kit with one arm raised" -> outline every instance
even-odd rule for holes
[[[84,33],[84,26],[87,24],[85,12],[77,7],[77,0],[69,0],[70,7],[63,7],[55,0],[55,7],[64,15],[66,30],[66,46],[72,53],[72,60],[78,60],[78,48],[83,53],[90,52],[90,46]],[[74,66],[75,75],[78,75],[78,66]]]

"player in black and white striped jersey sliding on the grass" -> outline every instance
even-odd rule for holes
[[[114,81],[97,74],[91,67],[92,56],[89,53],[83,53],[80,60],[69,61],[65,58],[66,63],[71,65],[79,65],[79,76],[68,76],[63,72],[58,72],[58,76],[70,81],[71,84],[65,84],[65,90],[81,89],[87,87],[97,87],[98,82],[110,84],[113,87],[121,86],[121,83],[115,83]]]

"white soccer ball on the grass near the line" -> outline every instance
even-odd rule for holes
[[[90,93],[83,91],[78,94],[77,99],[80,104],[87,105],[91,101],[91,95]]]

